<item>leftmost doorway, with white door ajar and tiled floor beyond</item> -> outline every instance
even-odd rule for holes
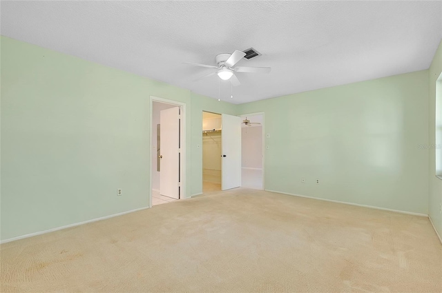
[[[151,97],[149,206],[185,197],[184,107],[182,103]]]

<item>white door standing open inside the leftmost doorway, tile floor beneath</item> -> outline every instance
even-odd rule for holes
[[[180,199],[180,108],[160,111],[160,194]]]

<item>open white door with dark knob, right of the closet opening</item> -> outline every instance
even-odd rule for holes
[[[241,185],[241,117],[222,114],[221,189]]]

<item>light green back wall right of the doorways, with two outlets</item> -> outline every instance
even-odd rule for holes
[[[423,70],[240,105],[265,112],[265,189],[427,214],[427,83]]]

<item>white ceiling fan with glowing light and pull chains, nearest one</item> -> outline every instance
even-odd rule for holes
[[[200,64],[200,63],[192,63],[192,62],[184,62],[186,64],[205,67],[205,68],[214,68],[216,69],[215,72],[212,72],[211,74],[207,74],[204,77],[200,77],[199,79],[196,79],[195,81],[199,81],[200,79],[204,79],[206,77],[211,77],[212,75],[218,74],[218,77],[220,79],[227,81],[230,79],[232,85],[240,85],[240,81],[238,80],[238,77],[234,74],[234,72],[252,72],[252,73],[269,73],[271,68],[269,67],[248,67],[248,66],[237,66],[235,67],[236,63],[238,63],[246,53],[235,50],[232,54],[218,54],[215,57],[215,61],[217,65],[206,65],[206,64]]]

